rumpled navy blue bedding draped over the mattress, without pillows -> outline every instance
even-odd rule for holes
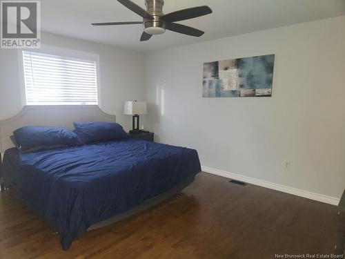
[[[168,191],[201,171],[197,151],[117,140],[3,157],[3,180],[61,236],[64,250],[92,224]]]

